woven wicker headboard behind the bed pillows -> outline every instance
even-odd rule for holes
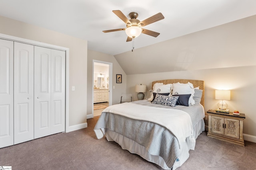
[[[199,86],[199,89],[203,90],[202,98],[200,104],[204,106],[204,81],[203,80],[187,80],[187,79],[169,79],[169,80],[158,80],[152,82],[152,89],[155,83],[163,83],[163,84],[173,84],[173,83],[192,83],[194,88]]]

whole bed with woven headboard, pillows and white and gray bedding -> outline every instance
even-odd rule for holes
[[[170,94],[164,93],[169,87]],[[98,139],[105,136],[163,169],[175,170],[194,150],[196,138],[204,131],[203,118],[204,81],[158,80],[152,82],[149,100],[104,109],[94,132]]]

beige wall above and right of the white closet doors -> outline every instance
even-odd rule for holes
[[[69,48],[69,125],[86,123],[87,41],[2,16],[0,33]]]

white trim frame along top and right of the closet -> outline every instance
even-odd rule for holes
[[[6,39],[6,40],[10,40],[10,41],[16,41],[19,43],[27,43],[30,45],[36,45],[36,46],[40,46],[40,47],[46,47],[46,48],[51,48],[51,49],[56,49],[56,50],[61,50],[61,51],[65,51],[66,53],[66,89],[65,89],[65,102],[66,102],[66,108],[65,108],[65,131],[66,132],[70,132],[70,131],[74,131],[77,129],[74,129],[72,127],[69,126],[69,48],[66,47],[60,47],[58,45],[52,45],[52,44],[47,44],[47,43],[42,43],[42,42],[38,42],[38,41],[33,41],[30,39],[24,39],[24,38],[20,38],[20,37],[14,37],[12,35],[6,35],[6,34],[2,34],[0,33],[0,38],[1,39]]]

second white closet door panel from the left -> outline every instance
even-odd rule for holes
[[[14,145],[34,139],[34,46],[14,42]]]

